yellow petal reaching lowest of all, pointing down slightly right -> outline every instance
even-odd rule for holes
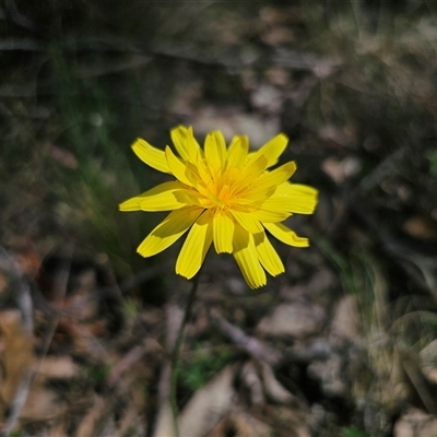
[[[233,246],[235,261],[249,287],[258,288],[265,285],[265,272],[259,262],[253,237],[238,224],[235,225]]]

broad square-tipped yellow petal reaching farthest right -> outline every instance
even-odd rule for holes
[[[316,188],[300,184],[284,182],[277,187],[271,200],[285,202],[290,212],[312,214],[317,205],[317,194]]]

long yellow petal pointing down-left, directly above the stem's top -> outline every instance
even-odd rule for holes
[[[202,265],[212,243],[212,211],[205,211],[192,225],[176,261],[176,273],[191,279]]]

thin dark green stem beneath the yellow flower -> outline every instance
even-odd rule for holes
[[[178,336],[176,339],[175,346],[172,352],[170,383],[169,383],[168,398],[169,398],[169,403],[172,405],[172,414],[173,414],[173,421],[174,421],[174,426],[175,426],[175,437],[179,437],[179,426],[178,426],[178,422],[177,422],[178,408],[177,408],[177,401],[176,401],[176,386],[177,386],[177,375],[178,375],[178,370],[179,370],[180,347],[184,342],[185,329],[187,328],[187,323],[191,318],[192,305],[196,300],[196,294],[197,294],[198,285],[199,285],[199,276],[200,276],[200,271],[196,274],[196,276],[192,280],[191,291],[188,296],[187,306],[186,306],[185,312],[184,312],[184,319],[182,319],[182,322],[180,323]]]

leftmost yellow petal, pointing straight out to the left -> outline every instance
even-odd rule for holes
[[[120,203],[120,211],[172,211],[191,204],[187,190],[179,181],[164,182],[140,196]]]

